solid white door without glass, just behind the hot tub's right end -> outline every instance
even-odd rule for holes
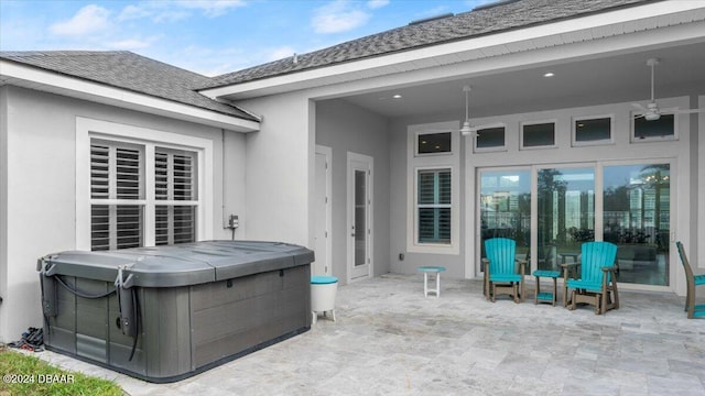
[[[312,263],[313,275],[330,275],[330,147],[316,146],[316,191],[315,191],[315,232],[314,251],[316,260]]]

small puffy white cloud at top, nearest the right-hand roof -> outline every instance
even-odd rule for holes
[[[370,15],[357,3],[336,0],[314,11],[311,21],[316,33],[340,33],[364,25]]]

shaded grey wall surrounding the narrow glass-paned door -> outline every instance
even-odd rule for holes
[[[390,157],[388,120],[344,100],[316,102],[316,144],[333,150],[333,275],[347,278],[347,153],[373,158],[373,275],[390,272]]]

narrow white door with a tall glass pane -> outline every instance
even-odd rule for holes
[[[348,282],[372,274],[372,157],[348,153]]]

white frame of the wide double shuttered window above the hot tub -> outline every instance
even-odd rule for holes
[[[117,143],[139,144],[144,146],[144,246],[155,244],[155,207],[160,204],[154,197],[154,158],[155,147],[191,151],[196,153],[197,166],[197,205],[196,205],[196,240],[213,239],[213,141],[158,131],[149,128],[133,127],[116,122],[76,118],[76,249],[90,250],[90,141],[99,139]],[[106,200],[100,200],[106,204]],[[109,202],[108,202],[109,204]]]

